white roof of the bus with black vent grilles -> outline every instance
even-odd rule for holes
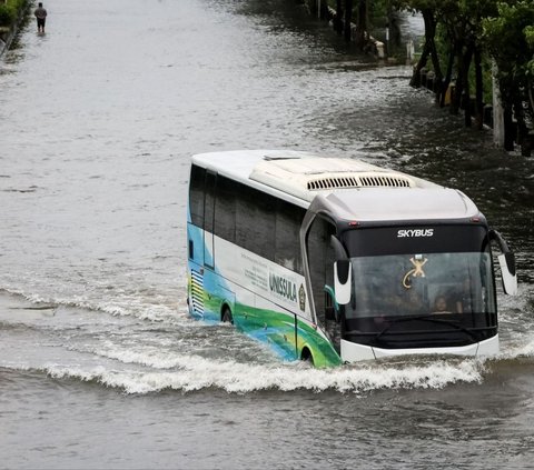
[[[320,194],[346,220],[481,216],[461,191],[357,159],[293,150],[236,150],[200,153],[192,162],[304,208]]]

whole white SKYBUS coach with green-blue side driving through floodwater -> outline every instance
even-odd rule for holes
[[[461,191],[360,160],[287,150],[192,157],[188,304],[317,367],[498,351],[491,243]]]

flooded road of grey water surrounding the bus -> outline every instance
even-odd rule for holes
[[[0,62],[6,468],[525,468],[532,159],[294,2],[56,0]],[[186,309],[192,153],[313,150],[471,196],[518,259],[502,353],[315,370]]]

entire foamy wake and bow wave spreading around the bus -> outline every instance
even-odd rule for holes
[[[50,303],[87,309],[87,306],[71,300],[61,302],[39,296],[18,296],[31,302],[30,309]],[[91,306],[91,310],[102,310],[95,307]],[[180,320],[175,320],[175,323],[169,321],[176,319],[176,311],[167,313],[157,317],[157,320],[149,319],[160,327],[166,326],[161,331],[146,328],[146,324],[139,327],[137,322],[132,329],[130,323],[123,324],[121,320],[111,327],[109,332],[112,334],[105,334],[93,323],[72,333],[69,330],[71,321],[59,319],[55,328],[67,333],[43,336],[49,342],[53,340],[50,342],[53,348],[49,348],[53,357],[47,357],[50,352],[42,349],[41,344],[36,347],[34,354],[30,347],[30,351],[13,357],[16,362],[10,363],[6,357],[0,367],[34,370],[55,379],[95,382],[126,393],[218,389],[229,393],[333,390],[362,394],[384,389],[441,389],[455,383],[482,383],[487,374],[493,373],[494,366],[498,368],[523,358],[531,363],[534,357],[534,334],[527,331],[503,342],[503,352],[493,358],[399,357],[333,369],[314,369],[300,361],[277,362],[261,347],[256,349],[256,343],[250,343],[247,337],[229,327],[214,328],[192,321],[186,316],[185,309],[181,321],[187,319],[187,326],[184,323],[181,327],[187,328],[175,328],[176,321]],[[166,321],[161,323],[161,319]],[[10,327],[11,321],[4,323],[3,330]],[[100,322],[96,324],[100,326]],[[150,323],[147,324],[150,327]],[[106,322],[105,326],[109,328]],[[122,331],[123,328],[126,331]],[[36,332],[43,331],[42,324],[39,324]],[[57,352],[60,350],[62,359],[58,361]]]

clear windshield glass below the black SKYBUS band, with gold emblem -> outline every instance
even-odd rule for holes
[[[353,258],[355,308],[347,316],[495,313],[490,253]]]

